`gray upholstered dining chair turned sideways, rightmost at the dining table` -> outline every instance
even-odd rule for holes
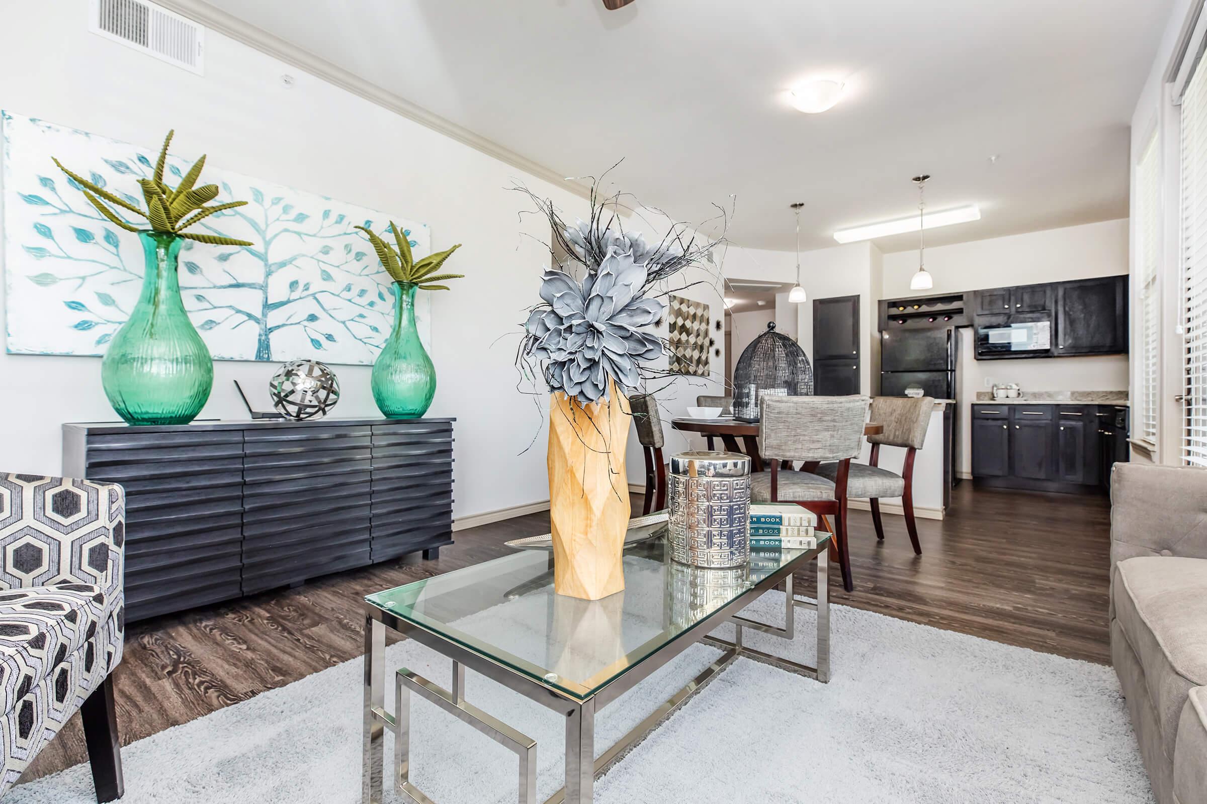
[[[871,444],[869,463],[852,463],[846,479],[849,497],[867,498],[870,501],[871,522],[876,526],[876,539],[885,538],[885,526],[880,521],[880,498],[902,498],[905,529],[909,532],[914,552],[919,556],[922,554],[922,546],[917,541],[917,524],[914,522],[914,457],[926,441],[926,430],[931,424],[931,411],[933,410],[934,399],[931,397],[917,399],[874,397],[871,399],[871,421],[882,424],[885,432],[880,435],[868,436],[868,441]],[[898,475],[877,465],[881,445],[905,450],[902,474]],[[838,471],[836,463],[827,463],[817,468],[817,474],[828,480],[836,479]]]

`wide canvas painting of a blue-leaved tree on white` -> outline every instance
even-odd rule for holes
[[[0,124],[7,351],[101,356],[139,297],[141,245],[101,217],[51,157],[141,205],[138,180],[153,172],[157,149],[10,112],[0,112]],[[177,141],[189,142],[188,133]],[[192,163],[169,154],[167,172],[179,180]],[[393,219],[419,258],[431,251],[427,225],[226,171],[214,160],[205,178],[221,188],[212,204],[249,204],[206,218],[197,233],[253,243],[186,241],[181,251],[181,298],[210,353],[372,364],[393,324],[395,288],[352,227],[384,233]],[[428,305],[421,292],[416,317],[430,348]]]

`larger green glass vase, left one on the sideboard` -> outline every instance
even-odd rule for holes
[[[130,424],[186,424],[214,386],[214,360],[180,300],[176,258],[182,240],[140,231],[142,294],[100,363],[109,403]]]

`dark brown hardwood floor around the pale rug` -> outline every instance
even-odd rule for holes
[[[946,520],[919,520],[920,557],[902,517],[885,515],[886,539],[879,542],[871,515],[852,511],[855,592],[832,581],[832,600],[1106,663],[1109,511],[1104,497],[973,489],[964,481]],[[122,743],[356,658],[363,652],[363,595],[480,563],[506,552],[508,539],[548,530],[547,513],[517,517],[459,532],[436,561],[409,556],[134,623],[115,673]],[[811,570],[797,588],[812,593]],[[75,717],[25,779],[86,758]]]

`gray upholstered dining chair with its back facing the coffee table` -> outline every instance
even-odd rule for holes
[[[846,548],[847,474],[851,458],[863,447],[867,397],[764,397],[759,438],[770,470],[751,479],[756,503],[795,503],[814,513],[834,517],[834,547],[842,570],[842,586],[855,588],[851,556]],[[836,462],[833,479],[804,470],[782,469],[781,460],[815,465]]]

